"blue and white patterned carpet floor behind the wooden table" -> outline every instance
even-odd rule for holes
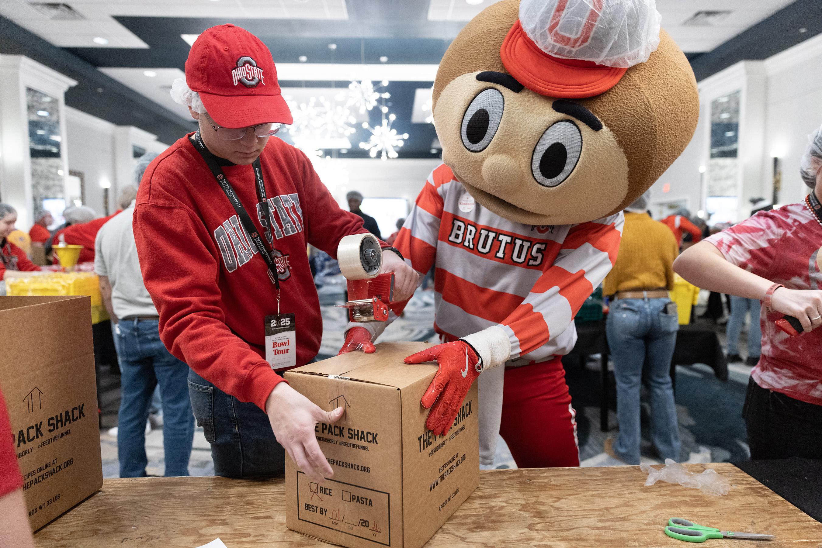
[[[321,308],[323,315],[323,338],[318,360],[336,354],[342,345],[342,329],[346,311],[335,305],[342,302],[342,294],[335,287],[321,289]],[[380,341],[418,340],[437,343],[432,329],[434,315],[434,292],[418,290],[403,317],[390,325]],[[718,328],[723,331],[723,328]],[[720,333],[724,341],[724,334]],[[744,346],[744,340],[741,344]],[[612,367],[612,364],[611,364]],[[732,364],[726,383],[720,382],[708,366],[677,366],[677,416],[682,440],[680,460],[708,463],[723,462],[733,459],[748,458],[745,423],[741,418],[742,403],[745,400],[745,389],[750,376],[750,367]],[[107,372],[114,376],[115,373]],[[603,441],[607,435],[616,435],[617,416],[614,408],[609,412],[611,431],[599,430],[599,366],[597,363],[566,363],[566,382],[570,389],[573,405],[577,412],[577,427],[580,442],[580,461],[583,466],[616,466],[620,461],[603,453]],[[616,392],[611,382],[610,401],[616,402]],[[643,394],[645,390],[643,389]],[[101,449],[104,460],[104,477],[118,477],[117,437],[109,429],[116,426],[119,390],[113,389],[102,398],[103,429],[101,430]],[[653,454],[648,434],[649,405],[643,395],[643,446],[644,462],[658,463]],[[163,473],[163,440],[162,429],[150,431],[146,436],[146,449],[149,457],[148,473]],[[516,467],[505,442],[500,439],[497,447],[496,468]],[[190,472],[196,476],[214,474],[210,450],[202,430],[195,434]]]

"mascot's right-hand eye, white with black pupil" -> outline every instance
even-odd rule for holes
[[[574,171],[581,152],[580,129],[574,122],[556,122],[543,133],[533,150],[533,177],[543,187],[556,187]]]

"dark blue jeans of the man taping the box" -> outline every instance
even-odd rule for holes
[[[225,394],[194,371],[188,372],[188,393],[197,425],[211,444],[216,476],[284,475],[285,449],[261,408]]]

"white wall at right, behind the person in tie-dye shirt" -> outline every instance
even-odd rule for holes
[[[742,91],[740,120],[739,219],[750,215],[751,196],[773,194],[773,157],[782,163],[779,203],[801,200],[808,189],[799,177],[807,135],[822,125],[822,35],[777,53],[764,62],[744,61],[699,82],[700,122],[686,150],[653,186],[653,203],[686,198],[700,209],[700,165],[708,164],[709,105],[732,90]],[[664,185],[670,191],[663,193]]]

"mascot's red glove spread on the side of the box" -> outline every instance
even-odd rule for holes
[[[417,352],[407,358],[405,363],[423,363],[436,361],[440,369],[434,380],[423,394],[423,408],[431,408],[425,427],[434,435],[446,435],[462,406],[465,394],[468,394],[473,380],[479,376],[482,367],[477,367],[479,357],[469,343],[458,340],[453,343],[437,344],[423,352]]]

